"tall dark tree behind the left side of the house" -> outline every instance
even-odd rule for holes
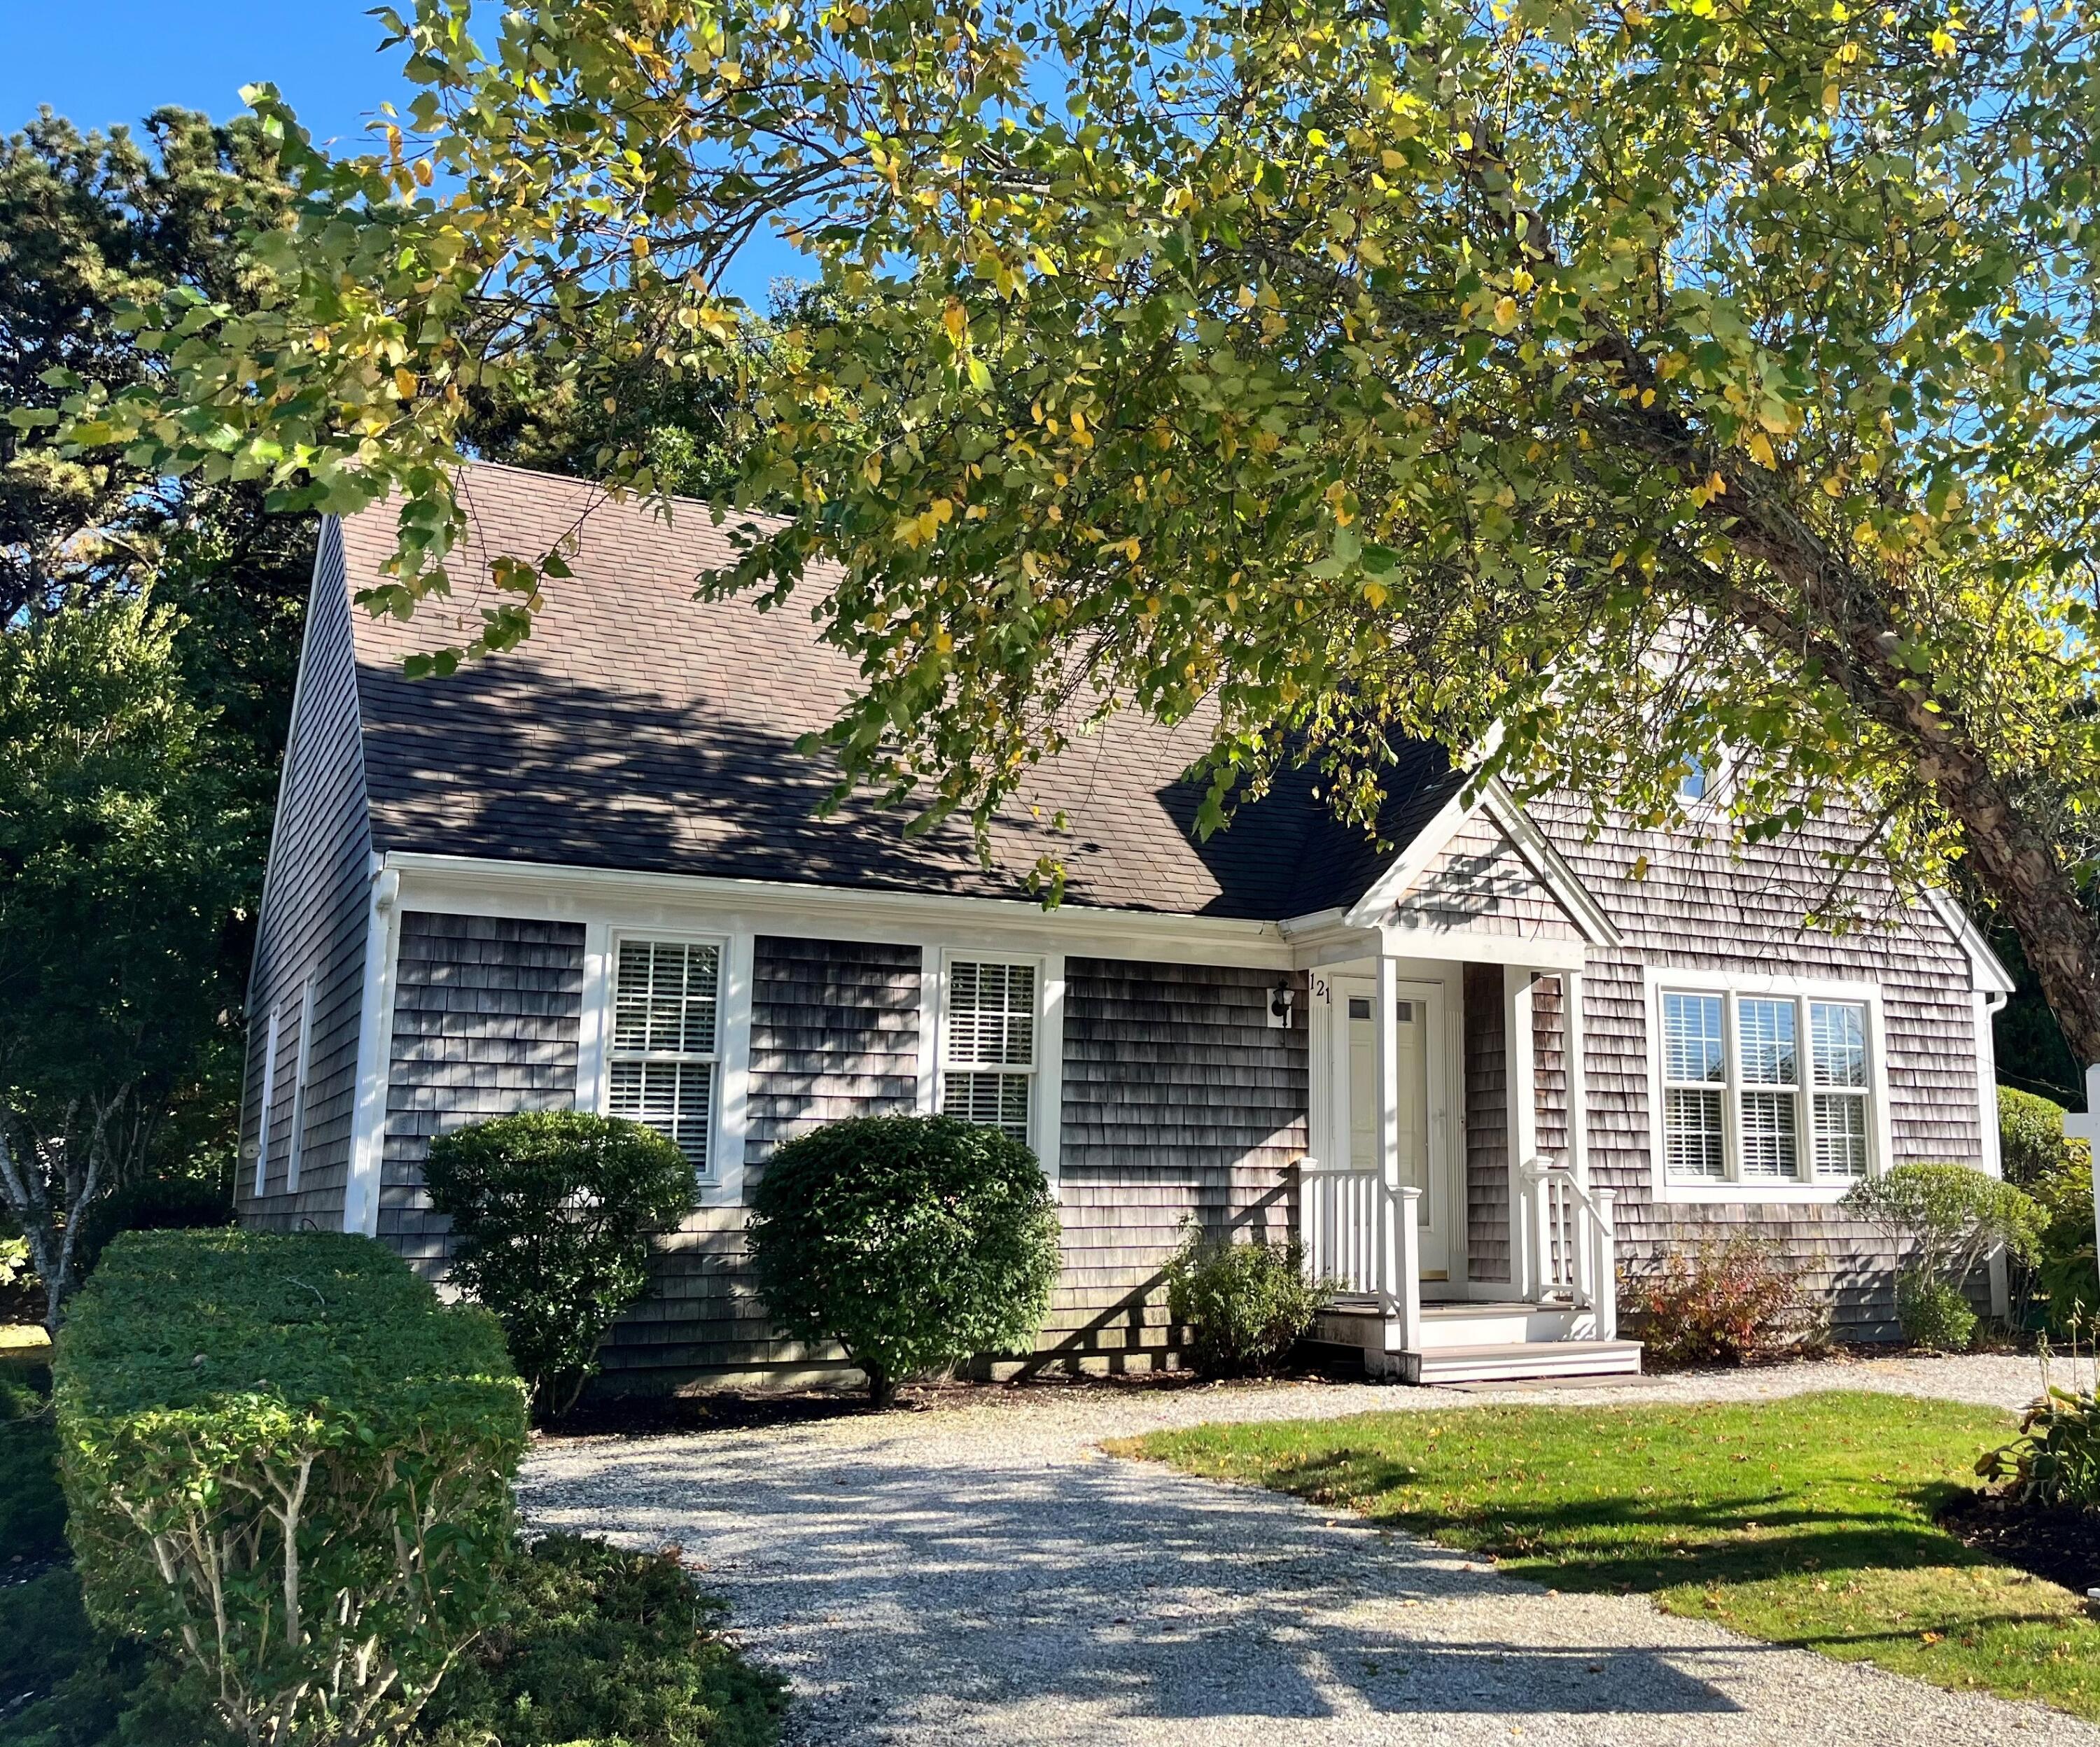
[[[0,409],[57,405],[52,367],[109,388],[143,382],[155,359],[118,304],[168,286],[242,298],[233,193],[254,214],[286,185],[254,118],[214,128],[162,109],[139,136],[82,134],[44,113],[0,141]],[[122,456],[61,456],[48,430],[0,422],[0,624],[23,630],[111,598],[168,609],[174,682],[212,741],[227,806],[248,821],[246,874],[227,890],[193,974],[210,1006],[193,1029],[158,1035],[136,1111],[149,1157],[122,1170],[225,1174],[239,1107],[239,985],[252,947],[313,561],[313,523],[269,514],[254,485],[172,481]],[[158,682],[158,680],[155,680]],[[4,901],[4,899],[0,899]],[[187,1067],[170,1062],[187,1050]],[[103,1178],[103,1188],[116,1188]]]

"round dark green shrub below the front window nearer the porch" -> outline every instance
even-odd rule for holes
[[[853,1117],[790,1140],[752,1195],[773,1321],[838,1342],[886,1405],[903,1377],[1033,1344],[1058,1268],[1035,1155],[953,1117]]]

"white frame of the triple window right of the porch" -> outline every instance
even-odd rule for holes
[[[1880,1176],[1894,1159],[1888,1119],[1888,1027],[1882,1018],[1882,989],[1873,983],[1844,983],[1812,976],[1754,976],[1720,970],[1672,970],[1646,966],[1648,1023],[1648,1159],[1655,1201],[1678,1203],[1829,1203],[1844,1197],[1861,1178],[1819,1178],[1814,1138],[1814,1069],[1810,1041],[1810,1002],[1842,1002],[1861,1008],[1867,1027],[1867,1176]],[[1663,995],[1720,995],[1724,1073],[1716,1083],[1722,1094],[1722,1170],[1714,1180],[1676,1180],[1670,1176],[1663,1096]],[[1739,1004],[1743,999],[1789,999],[1796,1025],[1796,1178],[1745,1178],[1743,1161],[1743,1056]],[[1751,1088],[1758,1090],[1758,1088]]]

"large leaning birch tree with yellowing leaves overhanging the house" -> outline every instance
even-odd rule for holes
[[[733,573],[863,664],[850,779],[979,819],[1088,699],[1367,819],[1396,735],[1667,821],[1737,771],[2018,930],[2100,1060],[2094,42],[2071,6],[544,0],[393,19],[420,97],[258,227],[256,311],[141,311],[76,445],[393,493],[449,586],[466,397],[529,349],[752,407]],[[477,36],[485,31],[485,36]],[[752,349],[790,231],[834,319]],[[590,344],[584,344],[584,338]],[[601,475],[653,496],[636,451]],[[680,510],[691,514],[691,510]],[[842,580],[815,588],[811,565]],[[563,554],[447,672],[529,634]],[[1842,878],[1833,876],[1833,886]]]

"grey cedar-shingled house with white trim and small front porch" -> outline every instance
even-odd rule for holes
[[[817,817],[830,773],[796,741],[855,670],[802,598],[691,598],[727,552],[701,506],[496,466],[464,498],[460,573],[573,529],[575,580],[514,653],[407,680],[477,590],[374,619],[351,598],[391,514],[323,527],[250,993],[252,1224],[441,1270],[433,1134],[632,1115],[685,1149],[695,1207],[607,1373],[779,1380],[827,1356],[752,1293],[746,1186],[815,1123],[958,1111],[1056,1184],[1035,1363],[1168,1363],[1157,1272],[1195,1220],[1302,1237],[1340,1283],[1327,1338],[1462,1377],[1638,1365],[1619,1270],[1737,1230],[1783,1243],[1842,1335],[1888,1335],[1892,1258],[1838,1197],[1903,1161],[1997,1170],[2003,968],[1873,865],[1858,928],[1804,930],[1812,832],[1594,836],[1413,745],[1392,853],[1306,781],[1199,844],[1203,724],[1117,716],[1035,773],[985,867],[960,829]],[[1025,888],[1044,850],[1056,909]]]

